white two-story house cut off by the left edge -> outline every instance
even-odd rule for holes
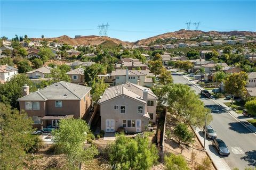
[[[4,83],[10,80],[13,75],[18,74],[18,69],[9,65],[0,65],[0,81]]]

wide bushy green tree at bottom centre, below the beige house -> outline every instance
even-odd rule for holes
[[[117,169],[150,169],[157,163],[158,151],[148,138],[132,139],[119,135],[108,146],[108,157]]]

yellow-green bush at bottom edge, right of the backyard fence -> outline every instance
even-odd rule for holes
[[[166,170],[189,170],[186,159],[182,155],[170,154],[164,157]]]

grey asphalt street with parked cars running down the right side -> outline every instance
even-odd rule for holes
[[[179,73],[172,73],[172,76],[174,83],[188,84],[195,90],[196,94],[200,94],[200,90]],[[201,97],[201,100],[204,102],[205,106],[220,108],[212,99]],[[222,139],[230,150],[230,155],[228,157],[220,156],[221,159],[224,159],[231,169],[235,167],[239,169],[244,169],[249,166],[255,167],[256,135],[225,111],[211,114],[213,121],[210,125],[217,132],[218,138]],[[199,134],[201,136],[204,135],[202,132],[199,132]],[[207,147],[209,147],[210,151],[214,152],[215,155],[218,155],[211,145]]]

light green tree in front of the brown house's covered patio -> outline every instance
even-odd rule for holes
[[[53,141],[57,150],[65,154],[71,167],[78,167],[79,163],[86,163],[98,155],[94,145],[85,149],[84,142],[90,127],[81,119],[63,119],[59,123],[59,129],[52,132]]]

